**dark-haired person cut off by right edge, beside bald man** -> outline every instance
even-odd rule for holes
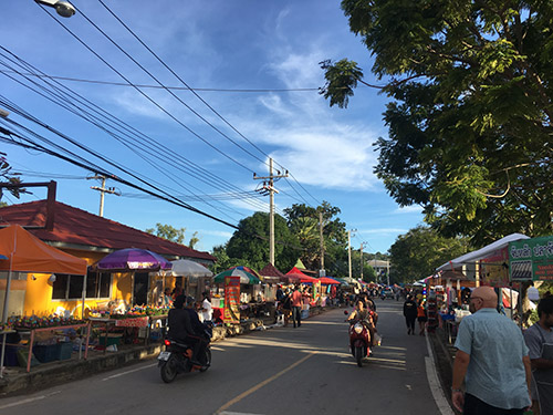
[[[553,414],[553,297],[538,303],[538,317],[540,320],[525,331],[524,340],[535,385],[532,401],[536,402],[532,407],[538,406],[539,414],[547,415]]]

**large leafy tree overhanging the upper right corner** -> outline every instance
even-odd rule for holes
[[[477,246],[553,231],[553,2],[343,0],[394,101],[377,176],[446,236]],[[322,93],[347,106],[363,72],[325,62]]]

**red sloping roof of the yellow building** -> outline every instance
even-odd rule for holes
[[[0,226],[10,224],[23,227],[44,226],[46,200],[30,201],[0,208]],[[215,261],[208,252],[175,243],[142,230],[131,228],[114,220],[105,219],[87,211],[55,201],[54,229],[28,230],[46,242],[65,242],[87,247],[124,249],[140,248],[164,256],[196,258]]]

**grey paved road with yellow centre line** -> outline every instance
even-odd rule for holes
[[[342,310],[213,344],[213,366],[164,384],[147,361],[33,395],[0,414],[440,414],[426,340],[407,335],[401,303],[377,301],[383,345],[363,367],[347,350]],[[428,360],[428,357],[427,357]]]

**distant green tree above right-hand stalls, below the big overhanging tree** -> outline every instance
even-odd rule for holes
[[[410,282],[431,276],[436,268],[467,251],[467,239],[444,238],[422,226],[410,229],[389,248],[390,281]]]

